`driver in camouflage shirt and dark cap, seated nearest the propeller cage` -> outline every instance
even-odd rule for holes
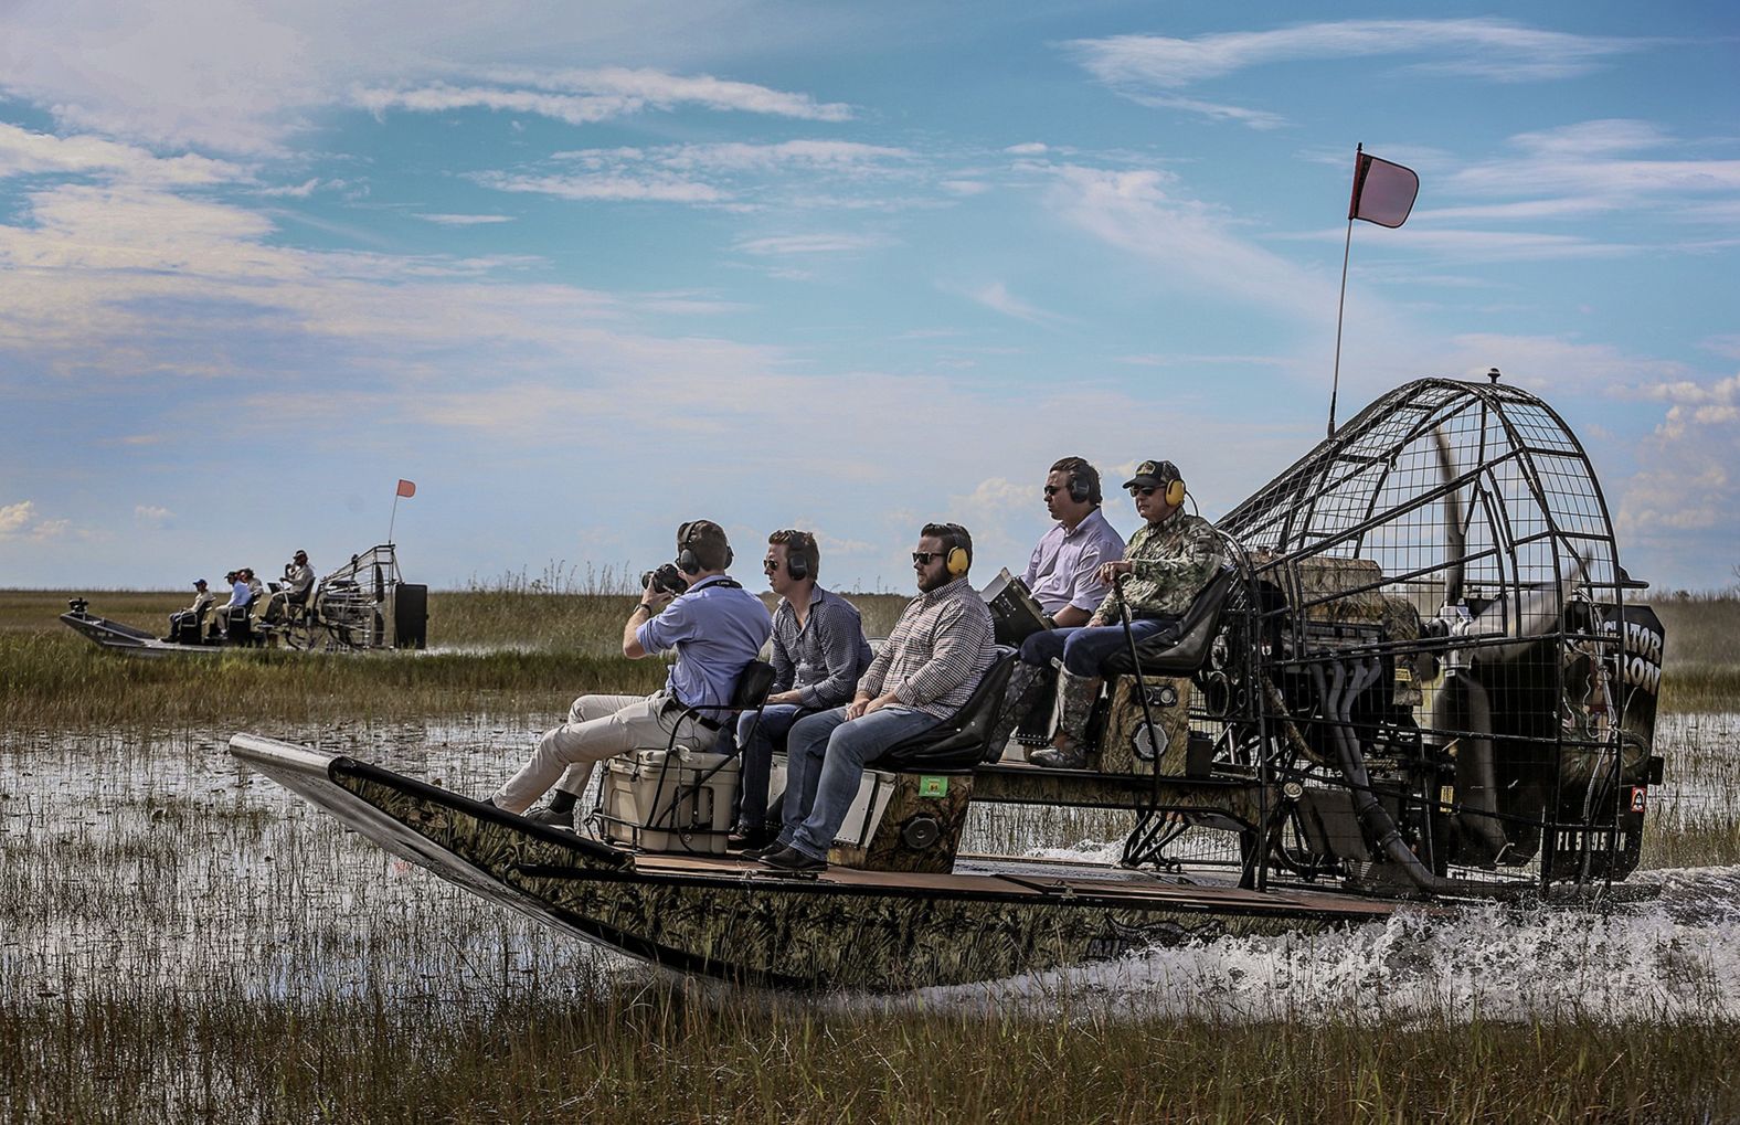
[[[1121,562],[1101,563],[1100,579],[1114,582],[1131,576],[1124,598],[1131,614],[1131,633],[1140,642],[1183,617],[1190,602],[1225,565],[1227,553],[1215,525],[1187,515],[1185,482],[1171,461],[1143,461],[1136,475],[1124,482],[1136,515],[1145,522],[1129,537]],[[1100,664],[1129,640],[1124,635],[1124,600],[1117,589],[1105,596],[1086,628],[1034,633],[1021,645],[1021,662],[1044,666],[1063,659],[1058,692],[1058,732],[1051,749],[1027,756],[1035,765],[1082,769],[1088,765],[1088,716],[1100,697]]]

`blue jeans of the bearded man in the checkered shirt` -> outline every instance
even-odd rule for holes
[[[865,765],[915,734],[943,720],[924,711],[891,704],[846,722],[846,708],[833,708],[792,727],[786,739],[785,829],[780,843],[811,859],[826,859],[833,833],[858,796]]]

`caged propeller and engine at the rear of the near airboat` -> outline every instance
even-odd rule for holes
[[[1545,402],[1411,383],[1220,527],[1272,603],[1275,862],[1399,894],[1630,873],[1663,631]]]

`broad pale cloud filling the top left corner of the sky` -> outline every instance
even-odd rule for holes
[[[757,21],[755,47],[795,45],[814,24]],[[541,0],[374,0],[364,7],[56,0],[0,9],[0,94],[44,106],[70,129],[268,155],[287,151],[318,115],[345,104],[345,90],[360,90],[383,108],[425,94],[438,99],[444,89],[487,94],[478,104],[545,94],[546,101],[520,111],[583,120],[609,106],[699,106],[821,122],[851,116],[849,106],[802,92],[670,73],[687,56],[717,57],[722,42],[743,35],[736,0],[640,0],[583,10]],[[670,70],[609,64],[646,57]],[[527,64],[501,68],[503,59]]]

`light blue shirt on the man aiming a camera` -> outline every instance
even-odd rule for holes
[[[731,690],[767,643],[773,619],[760,598],[736,582],[710,577],[687,589],[652,621],[635,629],[647,652],[677,650],[665,690],[691,708],[722,708]],[[720,720],[719,711],[701,715]]]

